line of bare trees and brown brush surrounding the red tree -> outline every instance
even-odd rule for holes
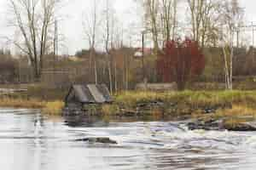
[[[193,78],[195,82],[224,82],[225,88],[232,89],[233,76],[256,71],[254,48],[248,50],[241,41],[244,9],[238,0],[136,0],[143,31],[124,28],[112,0],[91,0],[81,21],[88,48],[73,57],[58,55],[55,9],[61,1],[39,1],[9,0],[18,30],[13,42],[20,49],[20,57],[8,61],[15,66],[9,69],[15,77],[9,82],[41,81],[57,87],[106,83],[112,93],[135,88],[138,82],[179,82],[166,81],[157,61],[166,53],[167,42],[179,44],[186,38],[197,43],[205,58],[204,71]]]

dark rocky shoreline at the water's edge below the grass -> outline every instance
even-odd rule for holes
[[[111,106],[111,105],[110,105]],[[201,105],[192,107],[188,104],[165,103],[161,100],[138,102],[135,107],[127,108],[119,105],[119,110],[109,117],[134,118],[140,120],[145,116],[152,116],[153,120],[193,120],[187,123],[189,130],[229,130],[229,131],[256,131],[253,122],[236,122],[230,124],[226,117],[214,117],[218,110],[232,109],[232,105]],[[64,116],[106,116],[101,106],[71,107],[63,110]],[[197,115],[198,117],[193,117]],[[204,118],[201,118],[204,117]],[[206,118],[207,117],[207,118]]]

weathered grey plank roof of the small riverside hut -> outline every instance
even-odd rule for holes
[[[73,100],[83,104],[103,104],[113,101],[108,88],[103,84],[73,85],[67,94],[66,102]]]

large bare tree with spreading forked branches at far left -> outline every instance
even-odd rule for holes
[[[34,77],[41,77],[44,55],[52,43],[50,29],[55,23],[55,8],[60,0],[9,0],[13,14],[11,26],[20,31],[21,41],[15,46],[30,59]]]

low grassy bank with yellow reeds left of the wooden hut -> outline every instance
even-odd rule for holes
[[[46,88],[42,84],[1,85],[0,88],[27,89],[0,96],[0,107],[41,109],[44,114],[61,115],[67,89]]]

